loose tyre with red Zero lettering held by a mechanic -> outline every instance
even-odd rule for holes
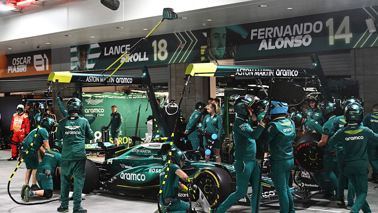
[[[321,134],[308,133],[299,138],[294,147],[294,161],[306,171],[324,171],[324,149],[317,146],[321,138]]]

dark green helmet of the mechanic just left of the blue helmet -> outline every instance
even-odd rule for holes
[[[260,98],[254,95],[244,95],[236,98],[234,102],[234,110],[237,115],[247,119],[249,116],[248,107],[255,108],[260,103]]]

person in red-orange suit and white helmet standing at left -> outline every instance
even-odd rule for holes
[[[17,160],[19,157],[19,145],[29,134],[30,125],[29,117],[25,113],[25,107],[22,104],[17,105],[17,113],[13,114],[11,123],[11,150],[12,157],[8,160]]]

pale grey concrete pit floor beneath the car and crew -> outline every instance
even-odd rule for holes
[[[8,162],[11,156],[10,151],[0,150],[0,212],[5,213],[40,213],[40,212],[57,212],[59,202],[54,201],[42,205],[19,205],[14,203],[8,195],[7,185],[12,172],[14,171],[17,162]],[[101,161],[100,159],[98,161]],[[12,178],[10,185],[10,192],[14,199],[20,203],[26,203],[20,197],[20,189],[25,182],[25,164],[22,163]],[[30,182],[31,183],[31,182]],[[375,184],[369,182],[369,191],[367,202],[370,205],[372,212],[378,212],[378,190],[374,190]],[[345,193],[347,193],[345,191]],[[59,197],[59,191],[54,191],[52,199]],[[45,198],[33,196],[31,202],[43,202]],[[156,200],[146,198],[135,198],[119,196],[114,194],[104,193],[104,191],[95,191],[87,195],[87,199],[82,201],[82,206],[90,213],[105,213],[105,212],[133,212],[133,213],[153,213],[157,209]],[[330,213],[348,213],[349,210],[345,208],[338,208],[335,202],[321,199],[321,196],[316,196],[311,201],[306,203],[294,203],[297,213],[311,213],[311,212],[330,212]],[[70,212],[72,212],[72,201],[70,201]],[[193,202],[193,207],[200,209],[197,204]],[[198,212],[203,212],[201,209]],[[227,212],[232,213],[250,213],[251,208],[241,205],[232,206]],[[260,208],[261,213],[278,213],[279,205],[265,205]],[[362,211],[360,211],[362,212]]]

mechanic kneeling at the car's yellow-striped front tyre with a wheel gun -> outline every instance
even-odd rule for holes
[[[189,177],[183,170],[181,170],[185,163],[185,154],[176,148],[172,148],[171,152],[172,159],[171,163],[169,163],[169,167],[167,162],[160,172],[160,188],[165,184],[159,197],[161,205],[160,210],[163,213],[195,213],[196,211],[194,208],[190,209],[189,204],[181,201],[177,197],[178,189],[187,193],[192,193],[179,181],[182,179],[185,182],[189,182]],[[169,160],[169,156],[167,156],[167,160]],[[165,183],[163,183],[165,176],[167,176],[167,179],[165,180]]]

